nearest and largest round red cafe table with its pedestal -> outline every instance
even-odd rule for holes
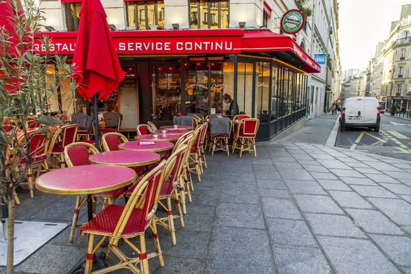
[[[136,173],[124,166],[107,164],[73,166],[49,171],[36,179],[41,192],[57,195],[88,195],[88,221],[92,219],[91,195],[116,190],[136,180]]]

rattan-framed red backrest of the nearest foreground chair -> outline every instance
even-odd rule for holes
[[[129,216],[132,214],[134,208],[142,210],[142,214],[138,215],[138,219],[130,220],[134,225],[139,227],[139,231],[144,231],[146,227],[151,224],[158,205],[158,195],[160,195],[161,186],[163,183],[164,171],[166,161],[163,160],[152,169],[147,175],[142,177],[138,182],[136,188],[133,190],[132,195],[125,204],[123,212],[121,213],[119,222],[113,232],[113,238],[110,242],[114,242],[116,236],[119,237],[123,234],[125,226],[129,221]]]

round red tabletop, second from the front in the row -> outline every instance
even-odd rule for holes
[[[92,164],[115,164],[116,166],[147,166],[160,160],[160,155],[150,151],[117,150],[97,153],[88,158]]]

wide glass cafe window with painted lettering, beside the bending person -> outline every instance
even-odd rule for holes
[[[233,95],[233,62],[189,62],[185,64],[187,113],[225,113],[223,95]]]

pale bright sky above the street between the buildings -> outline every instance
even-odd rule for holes
[[[378,42],[388,39],[391,21],[411,0],[338,0],[341,69],[365,70]]]

